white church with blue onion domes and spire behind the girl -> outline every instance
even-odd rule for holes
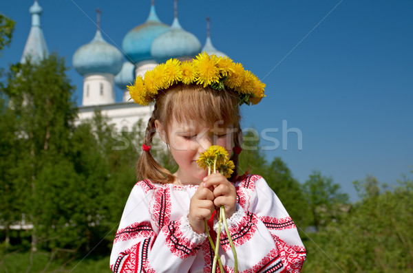
[[[38,1],[30,7],[32,27],[26,41],[21,63],[28,56],[39,60],[47,56],[47,44],[41,29],[42,8]],[[81,45],[74,53],[72,64],[78,74],[83,76],[82,104],[78,107],[78,121],[92,118],[96,107],[104,116],[116,124],[116,129],[127,131],[142,119],[149,120],[153,105],[142,107],[130,99],[126,86],[134,83],[137,75],[144,76],[149,69],[169,58],[196,56],[200,52],[226,56],[211,43],[209,19],[207,19],[207,40],[202,47],[198,38],[184,30],[178,21],[177,0],[172,25],[162,23],[155,11],[154,1],[147,20],[132,28],[122,42],[122,52],[103,39],[100,34],[100,14],[98,28],[92,41]],[[117,85],[123,90],[123,101],[115,101]]]

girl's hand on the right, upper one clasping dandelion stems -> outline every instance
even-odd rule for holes
[[[215,198],[213,199],[213,204],[217,208],[224,206],[225,217],[231,217],[237,208],[237,191],[235,186],[220,173],[213,173],[205,177],[203,186],[205,188],[213,187],[213,196]]]

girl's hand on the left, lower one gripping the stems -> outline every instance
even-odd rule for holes
[[[205,232],[205,220],[208,221],[215,210],[213,190],[213,186],[204,187],[201,183],[191,198],[188,221],[192,230],[198,234]]]

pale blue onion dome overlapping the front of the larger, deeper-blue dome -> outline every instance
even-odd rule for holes
[[[171,28],[153,41],[151,55],[158,63],[164,63],[169,58],[184,56],[194,57],[201,51],[201,43],[195,35],[182,29],[177,14],[175,1],[175,18]]]

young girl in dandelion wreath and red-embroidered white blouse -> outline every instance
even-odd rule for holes
[[[224,206],[237,252],[239,272],[299,272],[306,253],[293,220],[259,175],[231,178],[207,175],[200,153],[220,145],[237,165],[242,131],[239,106],[256,104],[265,85],[240,63],[200,54],[192,62],[171,59],[129,86],[140,105],[155,102],[143,153],[142,180],[127,200],[110,265],[113,272],[211,272],[215,208]],[[169,173],[151,156],[158,132],[179,168]],[[214,226],[215,222],[215,226]],[[234,256],[226,232],[220,235],[220,260],[233,272]]]

